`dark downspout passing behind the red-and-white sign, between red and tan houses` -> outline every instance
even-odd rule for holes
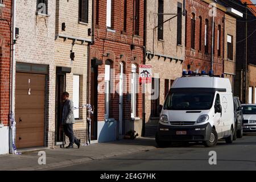
[[[146,64],[146,46],[147,46],[147,1],[144,1],[144,35],[143,35],[143,64]],[[154,40],[153,40],[154,41]],[[143,112],[143,123],[142,123],[142,137],[146,135],[146,113],[145,113],[145,84],[142,84],[142,112]]]

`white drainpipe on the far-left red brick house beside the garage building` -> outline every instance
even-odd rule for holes
[[[10,111],[10,154],[15,154],[15,114],[14,114],[14,99],[15,99],[15,27],[16,27],[16,0],[13,0],[13,34],[12,34],[12,45],[13,49],[11,52],[11,111]]]

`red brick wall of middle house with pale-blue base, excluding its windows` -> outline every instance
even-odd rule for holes
[[[127,28],[126,32],[123,32],[123,14],[124,14],[124,0],[113,0],[112,21],[113,30],[115,32],[107,31],[106,29],[106,0],[99,0],[99,23],[96,25],[94,31],[95,42],[91,46],[91,58],[100,59],[103,61],[103,65],[98,67],[98,74],[102,74],[98,79],[98,84],[102,85],[101,81],[104,81],[105,73],[105,61],[107,59],[112,60],[115,72],[115,77],[119,74],[119,62],[124,63],[124,74],[128,76],[131,73],[131,64],[143,64],[143,5],[144,1],[140,1],[139,8],[139,36],[133,35],[133,1],[127,1]],[[95,10],[96,10],[96,1]],[[96,14],[96,13],[95,13]],[[94,16],[96,17],[96,15]],[[96,20],[96,18],[94,18]],[[94,22],[95,23],[95,22]],[[131,44],[135,45],[135,49],[131,50]],[[108,57],[102,56],[102,54],[109,53]],[[123,55],[122,58],[120,58]],[[135,60],[133,60],[135,57]],[[138,68],[139,69],[139,68]],[[131,78],[127,78],[126,90],[130,90]],[[119,79],[115,80],[114,85],[118,88]],[[117,86],[116,86],[117,85]],[[141,86],[137,83],[140,92],[137,94],[137,117],[142,118],[142,92]],[[90,90],[90,89],[89,89]],[[116,89],[115,89],[116,90]],[[123,119],[131,118],[131,102],[127,99],[128,93],[123,94]],[[90,100],[90,96],[89,96]],[[109,118],[119,120],[119,94],[117,92],[111,94],[110,99],[110,115]],[[98,121],[104,121],[105,112],[105,95],[98,94]]]

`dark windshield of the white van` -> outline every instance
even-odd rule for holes
[[[209,110],[213,92],[169,92],[164,102],[165,110]]]

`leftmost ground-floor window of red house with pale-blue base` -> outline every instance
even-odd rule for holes
[[[106,60],[105,63],[105,118],[109,118],[110,108],[110,65],[111,62]]]

